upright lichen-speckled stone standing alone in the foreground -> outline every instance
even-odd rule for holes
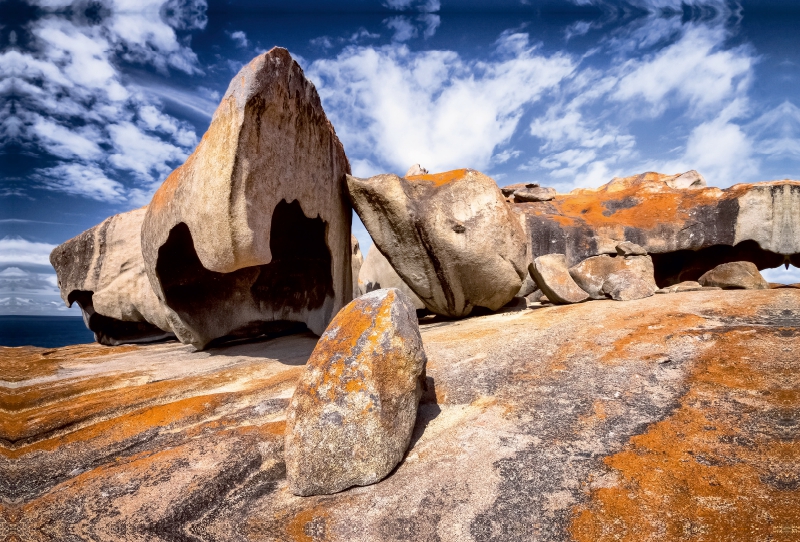
[[[388,475],[411,439],[425,362],[414,305],[401,291],[376,290],[342,309],[289,404],[289,490],[331,494]]]

